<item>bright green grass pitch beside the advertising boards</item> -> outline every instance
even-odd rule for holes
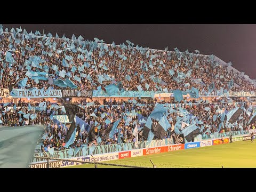
[[[216,146],[200,147],[161,154],[146,155],[107,161],[116,165],[153,167],[150,159],[157,167],[256,167],[256,142],[238,141]],[[71,166],[73,168],[94,167],[93,164]],[[98,165],[99,168],[118,166]]]

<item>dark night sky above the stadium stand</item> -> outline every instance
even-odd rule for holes
[[[105,43],[124,43],[127,39],[135,45],[152,49],[168,50],[178,47],[180,51],[199,50],[202,54],[214,54],[233,67],[256,79],[254,67],[256,25],[238,24],[3,24],[4,28],[25,28],[35,33],[57,32],[62,37],[74,34],[85,39],[94,37]]]

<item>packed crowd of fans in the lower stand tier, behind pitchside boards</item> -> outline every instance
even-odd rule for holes
[[[167,110],[167,119],[171,125],[169,129],[167,129],[163,138],[170,138],[171,134],[174,131],[174,127],[179,125],[178,119],[182,118],[182,126],[177,126],[178,130],[175,130],[175,134],[178,134],[181,130],[186,129],[188,125],[195,124],[198,129],[200,130],[200,134],[213,134],[215,132],[229,132],[229,131],[236,131],[236,130],[246,130],[252,129],[253,124],[247,126],[247,122],[252,116],[252,104],[255,103],[244,103],[237,102],[237,103],[228,103],[227,99],[226,102],[210,102],[207,103],[186,103],[182,102],[179,104],[175,104],[170,106],[170,103],[162,104]],[[47,101],[46,101],[47,102]],[[76,140],[73,145],[69,147],[81,147],[84,145],[87,146],[97,146],[97,145],[109,145],[119,142],[135,142],[137,138],[133,135],[133,131],[135,126],[138,127],[138,141],[147,140],[148,138],[143,138],[143,127],[145,126],[145,122],[141,122],[138,119],[138,114],[142,115],[143,117],[148,118],[151,112],[155,108],[155,104],[146,104],[134,105],[131,101],[123,101],[121,105],[101,105],[101,106],[81,106],[78,110],[76,116],[81,118],[85,123],[89,124],[89,126],[93,126],[94,132],[96,137],[93,140],[89,140],[89,133],[86,130],[78,129]],[[13,105],[13,103],[11,104]],[[3,125],[6,126],[23,126],[23,125],[45,125],[45,133],[47,135],[44,139],[41,139],[40,142],[43,143],[45,150],[47,147],[54,148],[54,149],[65,149],[65,138],[67,132],[69,130],[69,126],[63,126],[60,123],[54,123],[51,119],[51,114],[53,115],[61,115],[65,114],[61,110],[61,108],[57,108],[56,106],[52,106],[51,103],[46,103],[46,108],[43,111],[36,111],[34,108],[29,110],[28,103],[25,104],[23,107],[17,107],[16,110],[13,107],[10,107],[10,110],[7,110],[8,107],[2,106],[0,109],[0,116]],[[209,107],[210,109],[207,111],[205,108]],[[244,111],[241,114],[241,118],[239,118],[236,123],[223,124],[220,130],[218,130],[218,126],[221,119],[221,111],[222,108],[225,110],[230,111],[235,107],[244,107]],[[131,111],[135,110],[137,115],[131,114]],[[30,117],[25,117],[19,113],[22,111],[24,114],[30,114]],[[92,114],[95,116],[92,116]],[[31,119],[31,115],[36,114],[36,118]],[[102,117],[102,114],[103,117]],[[187,119],[187,114],[195,116],[195,118]],[[217,115],[216,119],[214,119],[214,115]],[[243,117],[243,118],[242,118]],[[107,122],[107,120],[109,122]],[[117,126],[117,130],[115,131],[113,138],[105,137],[105,131],[108,129],[109,126],[113,125],[118,119],[121,119]],[[156,125],[158,121],[152,119],[153,124]],[[97,122],[97,124],[96,124]],[[120,129],[120,131],[119,131]],[[176,129],[176,128],[175,128]],[[118,134],[120,134],[120,140],[118,140]],[[100,139],[99,139],[100,138]],[[163,139],[157,138],[156,136],[154,139]]]

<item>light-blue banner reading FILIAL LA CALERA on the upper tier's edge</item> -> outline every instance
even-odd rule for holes
[[[13,89],[11,95],[13,98],[62,98],[60,90],[24,90]]]

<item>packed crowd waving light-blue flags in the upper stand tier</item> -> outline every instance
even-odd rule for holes
[[[98,86],[104,89],[104,80],[110,77],[114,77],[116,82],[121,81],[125,90],[138,90],[139,85],[142,90],[154,91],[164,88],[186,91],[191,87],[207,90],[212,82],[216,90],[221,87],[229,90],[231,79],[238,85],[231,88],[233,91],[254,90],[251,82],[233,70],[228,71],[227,66],[219,65],[213,55],[180,52],[178,49],[173,52],[143,49],[138,45],[131,46],[133,44],[129,41],[129,45],[118,46],[114,42],[111,45],[100,43],[99,39],[82,41],[81,36],[77,39],[54,38],[51,34],[39,36],[39,33],[17,31],[13,29],[0,35],[0,58],[3,60],[0,61],[0,88],[10,85],[18,88],[20,85],[17,83],[27,77],[27,71],[41,71],[52,74],[54,79],[70,78],[78,90],[97,90]],[[7,51],[14,59],[11,65],[6,62]],[[38,66],[33,65],[33,56],[41,58]],[[60,75],[62,72],[64,76]],[[35,79],[28,78],[25,87],[47,89],[48,86],[48,81],[36,83]]]

